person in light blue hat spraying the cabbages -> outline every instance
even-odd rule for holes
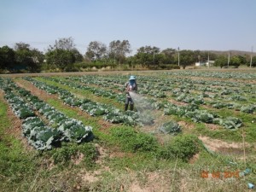
[[[129,81],[125,83],[125,111],[128,109],[128,105],[130,103],[130,110],[133,110],[134,107],[134,102],[131,99],[130,93],[129,92],[136,92],[137,91],[137,83],[136,83],[136,78],[135,76],[131,75]]]

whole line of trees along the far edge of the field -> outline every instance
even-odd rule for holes
[[[79,67],[120,67],[141,65],[148,69],[168,67],[187,67],[195,62],[206,62],[209,59],[216,67],[239,67],[250,64],[256,67],[256,56],[252,61],[250,55],[223,55],[209,51],[189,49],[160,49],[155,46],[143,46],[131,54],[128,40],[113,40],[108,44],[92,41],[84,55],[79,53],[73,38],[60,38],[55,44],[49,45],[45,54],[33,49],[30,44],[16,43],[14,49],[5,45],[0,47],[0,72],[38,73],[42,70],[58,68],[61,72],[79,71]]]

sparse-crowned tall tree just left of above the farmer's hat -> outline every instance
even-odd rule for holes
[[[114,61],[117,59],[119,64],[125,61],[125,55],[131,53],[131,44],[128,40],[116,40],[109,43],[109,57]]]

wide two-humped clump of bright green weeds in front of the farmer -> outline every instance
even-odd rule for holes
[[[164,146],[148,133],[137,132],[130,127],[116,127],[111,129],[111,136],[120,147],[132,153],[142,152],[151,158],[163,160],[180,159],[188,162],[193,155],[201,150],[201,141],[190,134],[178,135],[165,143]]]

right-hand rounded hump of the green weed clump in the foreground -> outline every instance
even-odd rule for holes
[[[194,135],[177,136],[173,137],[165,148],[160,148],[160,157],[164,159],[179,158],[187,162],[191,157],[199,153],[200,148],[201,141]]]

